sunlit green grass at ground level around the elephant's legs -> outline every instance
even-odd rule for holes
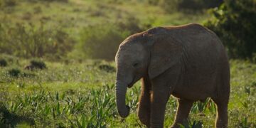
[[[137,117],[140,83],[128,90],[127,103],[131,114],[122,119],[117,114],[114,95],[114,63],[87,60],[82,63],[46,62],[45,70],[23,70],[29,60],[19,60],[1,68],[0,124],[13,127],[144,127]],[[256,65],[230,60],[231,94],[228,105],[229,127],[256,126]],[[33,76],[11,76],[9,68]],[[14,69],[16,69],[14,68]],[[105,69],[105,68],[103,68]],[[166,106],[165,127],[174,121],[176,99]],[[213,127],[215,105],[212,100],[195,102],[186,127]]]

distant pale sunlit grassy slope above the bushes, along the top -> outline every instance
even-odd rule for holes
[[[43,23],[46,27],[63,26],[72,37],[78,38],[80,29],[102,23],[125,21],[129,17],[142,24],[170,26],[183,23],[201,23],[208,14],[166,13],[159,6],[144,2],[124,1],[114,4],[93,0],[69,0],[65,2],[16,1],[16,6],[0,9],[0,19],[8,23]],[[3,21],[2,21],[3,22]]]

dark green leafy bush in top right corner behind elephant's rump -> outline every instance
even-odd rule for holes
[[[256,1],[225,0],[213,9],[205,26],[215,31],[228,48],[230,58],[253,58],[256,53]]]

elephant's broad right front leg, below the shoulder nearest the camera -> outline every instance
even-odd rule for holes
[[[164,112],[166,110],[166,103],[171,95],[170,87],[152,87],[151,95],[151,113],[150,113],[150,127],[161,128],[164,127]]]

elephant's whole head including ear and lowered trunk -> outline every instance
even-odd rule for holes
[[[156,78],[179,60],[181,46],[171,36],[166,38],[167,33],[166,28],[152,28],[129,36],[120,44],[115,62],[116,102],[121,117],[129,115],[129,107],[125,105],[127,87],[146,76]]]

